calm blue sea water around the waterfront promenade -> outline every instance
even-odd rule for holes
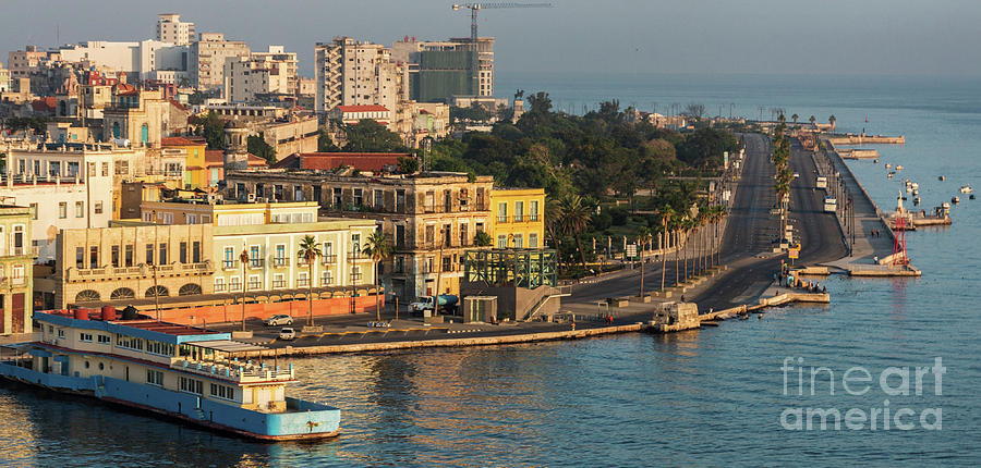
[[[835,114],[841,130],[905,134],[879,147],[881,162],[907,169],[893,181],[882,164],[855,162],[880,205],[901,181],[920,183],[924,206],[981,188],[981,82],[923,78],[501,76],[498,89],[547,89],[561,107],[619,97],[645,110],[701,102],[715,114],[759,116],[783,107],[801,120]],[[580,109],[581,110],[581,109]],[[868,115],[869,123],[864,122]],[[937,175],[946,175],[938,182]],[[922,279],[827,281],[834,304],[772,311],[762,321],[669,336],[622,335],[580,342],[435,349],[296,360],[304,397],[340,406],[343,435],[317,444],[254,444],[89,402],[0,386],[0,465],[94,466],[977,466],[981,463],[981,328],[978,304],[981,201],[955,207],[955,224],[909,235]],[[797,395],[796,367],[824,366],[810,394]],[[887,395],[891,366],[946,367],[937,392]],[[868,369],[869,392],[849,395],[841,374]],[[859,375],[852,373],[852,377]],[[887,379],[900,386],[900,379]],[[852,381],[852,390],[860,389]],[[915,372],[910,378],[915,386]],[[941,393],[941,394],[937,394]],[[888,404],[885,404],[888,399]],[[880,415],[876,430],[788,430],[785,408]],[[882,429],[882,412],[910,430]],[[919,416],[942,412],[942,427]],[[895,419],[891,419],[891,426]],[[792,422],[792,418],[785,420]],[[927,419],[928,426],[935,418]],[[792,424],[791,424],[792,426]],[[816,429],[816,428],[815,428]],[[828,428],[833,429],[833,428]]]

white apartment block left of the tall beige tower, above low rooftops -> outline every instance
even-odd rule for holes
[[[256,95],[294,95],[296,54],[282,46],[269,46],[268,52],[229,57],[225,60],[223,97],[228,102],[252,102]]]

